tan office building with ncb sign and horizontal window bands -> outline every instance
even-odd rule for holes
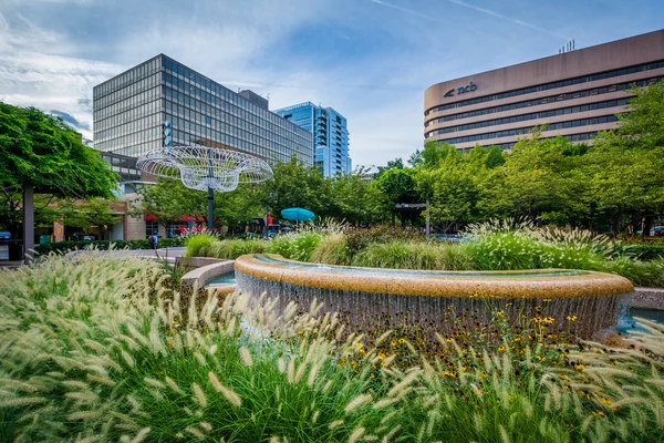
[[[424,137],[469,150],[542,138],[592,143],[616,127],[630,87],[664,78],[664,30],[437,83],[424,93]]]

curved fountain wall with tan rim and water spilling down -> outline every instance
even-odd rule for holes
[[[541,321],[549,331],[591,338],[618,322],[634,290],[620,276],[567,269],[425,271],[321,266],[278,255],[236,260],[237,289],[295,301],[307,311],[315,298],[356,331],[421,327],[455,336],[486,326],[496,312]],[[535,319],[535,320],[532,320]]]

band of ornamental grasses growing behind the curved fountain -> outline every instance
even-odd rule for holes
[[[235,259],[279,254],[324,265],[425,270],[584,269],[618,274],[635,286],[664,287],[664,258],[639,260],[633,246],[583,229],[537,227],[513,219],[471,225],[466,241],[426,240],[412,230],[377,226],[307,226],[270,240],[187,240],[187,255]],[[346,227],[347,228],[347,227]]]

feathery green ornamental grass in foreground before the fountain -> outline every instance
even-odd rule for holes
[[[278,318],[276,300],[200,300],[168,278],[95,255],[1,270],[0,441],[664,439],[652,322],[608,346],[496,310],[432,343],[350,331],[315,303]]]

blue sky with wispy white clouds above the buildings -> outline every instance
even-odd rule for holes
[[[664,28],[664,0],[0,0],[0,100],[92,138],[94,85],[165,53],[347,119],[353,165],[424,142],[438,82]]]

